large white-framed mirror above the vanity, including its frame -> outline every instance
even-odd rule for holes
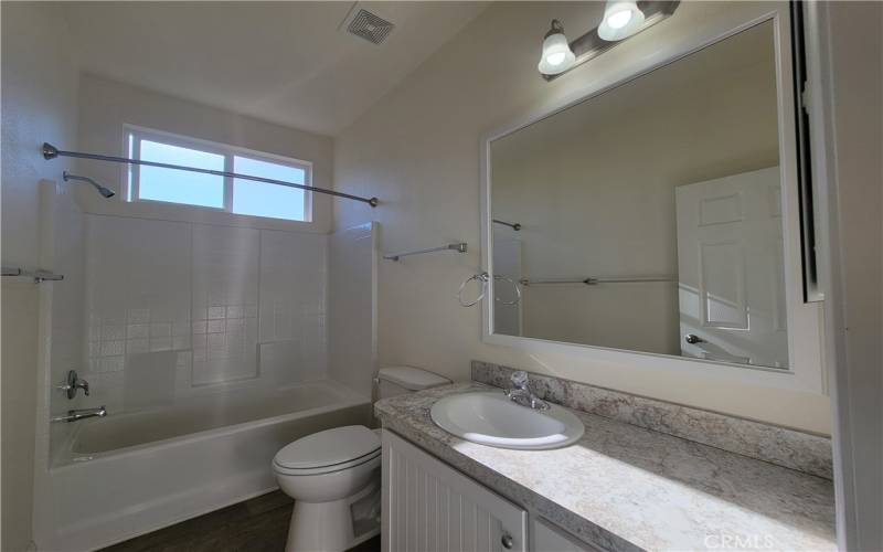
[[[486,341],[823,390],[788,31],[773,11],[485,141]]]

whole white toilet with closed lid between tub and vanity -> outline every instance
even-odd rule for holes
[[[418,368],[387,367],[377,373],[377,396],[447,383]],[[380,532],[380,429],[349,425],[307,435],[276,453],[273,473],[295,499],[286,552],[342,552]]]

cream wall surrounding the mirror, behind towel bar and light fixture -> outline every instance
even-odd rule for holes
[[[467,255],[380,262],[380,363],[415,364],[466,380],[469,360],[481,359],[828,434],[830,402],[826,396],[712,376],[655,375],[627,363],[602,364],[487,346],[481,342],[480,309],[457,304],[460,282],[480,264],[482,136],[575,99],[586,87],[624,78],[635,60],[660,60],[660,43],[677,46],[698,35],[711,39],[769,7],[682,2],[673,18],[552,83],[544,82],[536,73],[536,62],[549,21],[560,18],[571,34],[578,35],[596,24],[602,6],[493,4],[338,137],[336,187],[376,195],[381,205],[366,212],[338,202],[337,227],[375,220],[383,229],[383,251],[460,240],[470,246]]]

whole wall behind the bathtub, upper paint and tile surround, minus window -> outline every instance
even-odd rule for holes
[[[84,74],[79,149],[119,155],[124,125],[304,159],[331,185],[331,139]],[[61,145],[60,145],[61,147]],[[124,166],[77,170],[119,191]],[[233,386],[269,389],[327,373],[331,200],[302,223],[77,190],[86,214],[79,405],[148,408]],[[66,402],[58,399],[56,402]]]

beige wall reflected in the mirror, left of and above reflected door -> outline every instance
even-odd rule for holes
[[[529,278],[675,276],[674,190],[778,164],[776,105],[767,22],[494,140],[494,238]],[[674,280],[522,296],[524,336],[681,354]]]

